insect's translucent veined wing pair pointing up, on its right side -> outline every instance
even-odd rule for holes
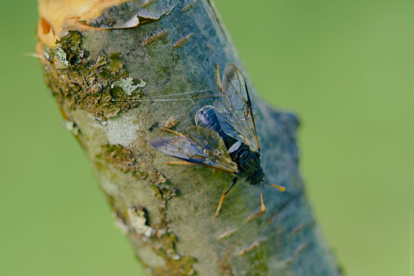
[[[214,109],[223,131],[244,144],[250,150],[259,150],[253,108],[246,82],[234,63],[227,63],[223,75],[223,103],[214,102]]]

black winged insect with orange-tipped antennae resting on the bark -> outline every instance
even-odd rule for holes
[[[224,196],[238,177],[246,177],[252,185],[259,184],[261,208],[265,211],[261,182],[269,183],[264,181],[265,173],[260,165],[259,143],[246,82],[234,63],[227,63],[224,68],[221,92],[222,102],[215,101],[214,106],[206,105],[200,109],[195,115],[196,126],[188,127],[187,135],[163,128],[177,136],[154,138],[149,143],[161,153],[184,160],[167,164],[202,165],[236,175],[229,189],[223,191],[214,216],[219,214]],[[282,186],[269,185],[285,191]]]

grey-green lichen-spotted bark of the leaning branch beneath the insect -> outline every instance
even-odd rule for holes
[[[82,23],[105,29],[64,30],[43,46],[46,79],[150,274],[339,275],[304,196],[298,121],[257,97],[211,2],[132,1]],[[215,65],[228,62],[247,80],[267,181],[287,190],[265,187],[262,213],[259,187],[240,181],[214,218],[233,176],[166,165],[148,141],[193,126],[220,98]]]

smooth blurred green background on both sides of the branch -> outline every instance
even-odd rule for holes
[[[216,1],[261,97],[301,119],[301,172],[327,243],[347,275],[408,275],[413,1],[252,3]],[[0,274],[141,275],[38,61],[24,56],[36,5],[2,2]]]

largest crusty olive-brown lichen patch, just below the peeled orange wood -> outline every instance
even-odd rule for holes
[[[133,80],[123,70],[121,53],[101,54],[91,60],[80,48],[77,31],[63,34],[56,43],[57,48],[44,47],[45,71],[61,107],[88,111],[104,123],[139,103],[146,82]]]

